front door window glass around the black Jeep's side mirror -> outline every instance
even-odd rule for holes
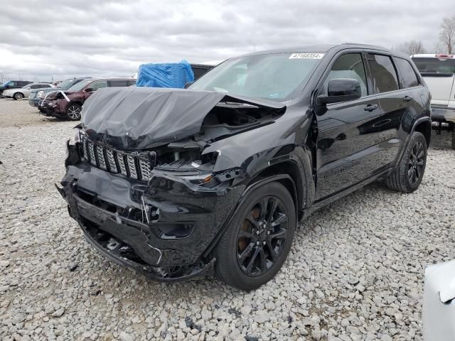
[[[330,72],[328,72],[321,94],[327,94],[328,81],[335,78],[353,78],[358,80],[360,82],[362,96],[368,94],[367,77],[360,53],[348,53],[338,57],[336,62],[333,63]]]

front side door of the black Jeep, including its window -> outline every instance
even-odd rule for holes
[[[388,162],[384,154],[389,146],[382,135],[382,124],[387,119],[380,109],[380,96],[370,89],[366,70],[360,53],[341,55],[319,90],[319,94],[324,94],[331,79],[354,78],[360,82],[362,97],[326,104],[316,110],[319,130],[316,200],[370,178]]]

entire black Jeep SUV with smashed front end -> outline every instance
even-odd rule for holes
[[[430,133],[430,94],[407,55],[355,44],[251,53],[188,90],[95,92],[58,190],[109,259],[250,290],[277,274],[314,210],[378,178],[417,190]]]

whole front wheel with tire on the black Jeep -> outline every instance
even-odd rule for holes
[[[215,249],[215,274],[250,291],[267,283],[284,263],[296,228],[294,200],[281,183],[247,194]]]

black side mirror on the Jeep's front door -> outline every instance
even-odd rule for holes
[[[360,82],[353,78],[334,78],[328,81],[327,94],[318,96],[321,104],[352,101],[362,97]]]

